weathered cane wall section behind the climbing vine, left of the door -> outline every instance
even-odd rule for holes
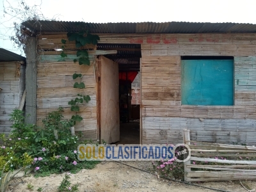
[[[80,107],[78,113],[83,117],[83,121],[77,122],[76,131],[82,131],[84,138],[97,140],[97,89],[95,80],[95,63],[91,62],[90,66],[80,66],[74,63],[73,55],[66,61],[58,61],[61,59],[60,53],[54,51],[54,48],[62,46],[61,39],[67,40],[65,34],[38,36],[38,66],[37,66],[37,122],[38,126],[42,126],[48,112],[57,110],[58,107],[64,108],[64,118],[70,119],[74,112],[70,111],[68,101],[76,98],[77,94],[88,94],[91,101]],[[66,48],[68,54],[76,54],[76,45],[67,41]],[[89,45],[86,48],[95,49],[95,45]],[[93,60],[93,57],[91,57]],[[73,80],[74,73],[84,75],[83,82],[86,89],[74,89]]]

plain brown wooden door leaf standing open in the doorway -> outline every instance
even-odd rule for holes
[[[118,63],[100,56],[100,140],[120,140]]]

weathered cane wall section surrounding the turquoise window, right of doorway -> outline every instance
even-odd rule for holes
[[[141,41],[143,144],[180,143],[183,128],[193,140],[255,144],[255,34],[122,36],[129,40]],[[182,55],[234,56],[234,106],[181,105]]]

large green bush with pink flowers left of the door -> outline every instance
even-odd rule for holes
[[[11,119],[13,130],[8,137],[0,135],[0,170],[7,161],[6,170],[31,165],[36,175],[77,172],[81,168],[93,168],[97,162],[79,161],[77,146],[81,134],[72,136],[72,122],[63,120],[63,108],[51,112],[43,120],[44,126],[24,124],[24,115],[20,110],[13,110]]]

